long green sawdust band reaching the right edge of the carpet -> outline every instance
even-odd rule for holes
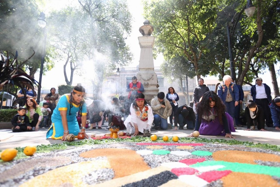
[[[280,177],[280,168],[266,165],[244,164],[238,162],[225,162],[225,161],[204,161],[201,163],[190,165],[190,167],[202,167],[212,165],[223,165],[225,167],[217,169],[220,171],[231,170],[235,172],[264,174]]]

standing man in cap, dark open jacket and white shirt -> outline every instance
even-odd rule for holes
[[[256,84],[251,87],[251,96],[253,101],[264,109],[265,124],[267,127],[273,127],[270,109],[268,104],[271,102],[271,90],[268,85],[263,83],[263,79],[256,78]]]

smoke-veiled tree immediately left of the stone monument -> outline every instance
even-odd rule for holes
[[[127,65],[132,60],[125,43],[131,31],[131,14],[126,2],[121,0],[78,1],[88,16],[86,55],[95,73],[93,95],[100,99],[106,69]]]

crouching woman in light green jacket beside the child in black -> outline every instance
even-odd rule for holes
[[[35,99],[26,99],[26,116],[29,118],[30,125],[33,131],[38,131],[39,124],[42,120],[43,114],[41,112],[40,106],[36,103]]]

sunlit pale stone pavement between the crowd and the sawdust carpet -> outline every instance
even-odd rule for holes
[[[102,129],[86,129],[86,133],[88,135],[104,135],[105,133],[109,133],[110,131],[106,131],[105,128],[108,126],[105,123],[102,126]],[[186,128],[186,127],[184,127]],[[236,140],[239,141],[249,141],[254,143],[269,143],[273,145],[280,145],[280,132],[276,131],[275,128],[266,128],[267,132],[262,132],[259,130],[254,131],[244,131],[244,127],[237,127],[236,132],[232,134],[236,137]],[[15,148],[15,147],[25,147],[29,146],[37,146],[41,144],[55,144],[55,143],[63,143],[61,140],[53,140],[53,139],[46,139],[46,132],[47,129],[40,129],[39,131],[35,132],[18,132],[14,133],[10,129],[1,129],[0,130],[0,150],[4,150],[6,148]],[[124,131],[125,132],[125,131]],[[152,134],[156,134],[157,136],[178,136],[178,137],[187,137],[193,130],[178,130],[172,131],[171,129],[168,130],[159,130],[156,131],[152,129]],[[207,138],[207,139],[226,139],[230,140],[231,138],[225,138],[223,136],[203,136],[200,135],[199,137]],[[75,141],[79,141],[75,139]]]

